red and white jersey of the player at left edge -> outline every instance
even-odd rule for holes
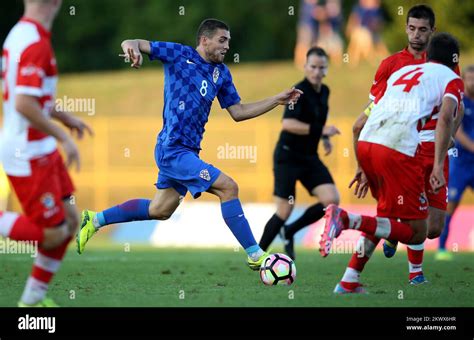
[[[45,116],[51,115],[58,72],[51,34],[41,24],[22,18],[10,31],[2,52],[3,131],[0,155],[10,176],[31,175],[30,160],[56,150],[56,140],[31,127],[15,109],[18,94],[38,98]]]

